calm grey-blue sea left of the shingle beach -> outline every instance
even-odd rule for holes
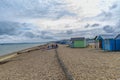
[[[5,44],[0,44],[0,56],[17,52],[23,49],[43,45],[46,43],[5,43]]]

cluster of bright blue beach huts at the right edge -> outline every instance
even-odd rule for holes
[[[106,51],[120,51],[120,34],[96,36],[95,47]]]

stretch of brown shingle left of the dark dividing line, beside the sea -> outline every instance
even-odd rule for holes
[[[0,80],[66,80],[53,49],[22,52],[0,64]]]

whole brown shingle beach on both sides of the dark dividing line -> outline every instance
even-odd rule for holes
[[[68,45],[59,45],[56,50],[75,80],[120,79],[120,52]],[[37,46],[13,54],[17,55],[0,64],[0,80],[67,80],[55,49]]]

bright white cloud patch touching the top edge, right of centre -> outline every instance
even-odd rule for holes
[[[77,13],[80,17],[91,17],[99,14],[99,0],[65,0],[68,3],[68,9]]]

